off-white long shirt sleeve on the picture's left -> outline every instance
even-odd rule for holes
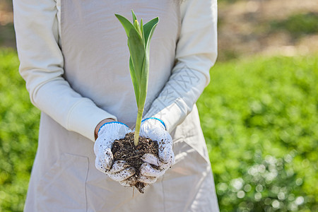
[[[13,1],[13,10],[19,71],[31,102],[64,128],[95,141],[95,126],[116,117],[76,93],[62,77],[56,1]]]

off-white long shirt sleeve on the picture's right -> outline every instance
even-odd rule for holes
[[[210,81],[209,70],[217,57],[217,1],[183,1],[181,16],[177,63],[145,115],[162,119],[170,132],[192,111]]]

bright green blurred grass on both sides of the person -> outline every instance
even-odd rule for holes
[[[198,107],[221,211],[317,211],[317,59],[254,57],[211,70]],[[40,112],[16,52],[0,50],[0,71],[0,211],[22,211]]]

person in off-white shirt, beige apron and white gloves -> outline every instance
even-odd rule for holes
[[[131,9],[144,23],[160,18],[141,134],[171,135],[175,155],[164,175],[149,181],[146,172],[145,194],[134,195],[122,186],[131,175],[112,176],[103,143],[136,120],[126,35],[114,16]],[[25,211],[218,211],[195,105],[217,57],[216,0],[13,0],[13,11],[20,75],[42,111]]]

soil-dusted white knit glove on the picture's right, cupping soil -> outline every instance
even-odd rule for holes
[[[175,154],[172,151],[172,137],[165,129],[165,124],[162,120],[156,118],[144,119],[141,122],[140,136],[152,139],[158,142],[158,156],[153,154],[145,154],[142,157],[143,163],[140,167],[141,176],[140,182],[151,184],[158,177],[165,174],[175,163]],[[157,166],[157,168],[152,165]]]

